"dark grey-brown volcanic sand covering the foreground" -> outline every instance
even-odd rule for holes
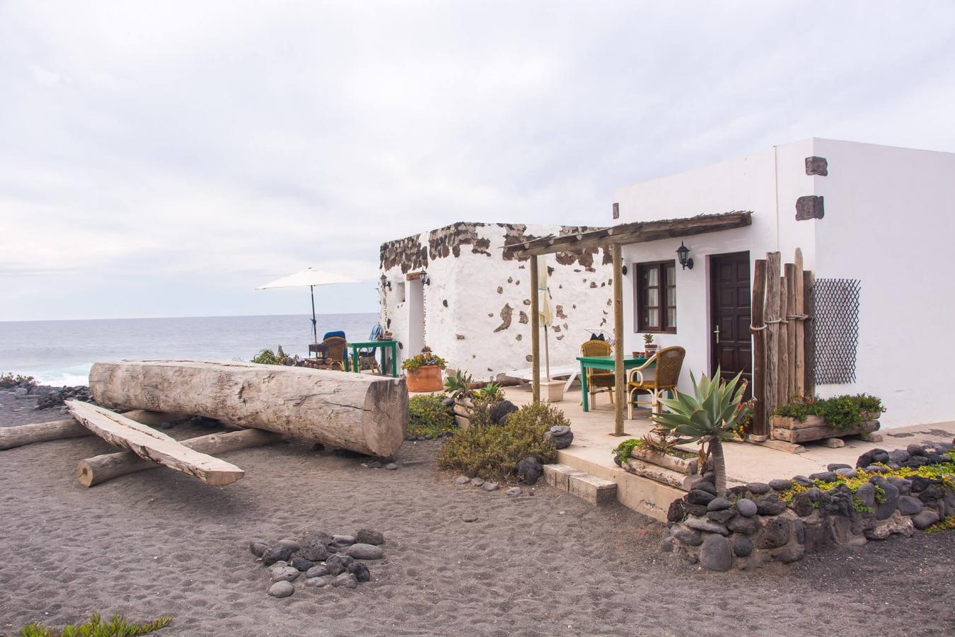
[[[0,426],[63,417],[0,403]],[[112,451],[95,437],[0,452],[0,634],[93,611],[172,615],[159,635],[955,633],[955,533],[702,572],[625,508],[458,486],[435,470],[437,444],[406,443],[396,472],[304,443],[244,450],[224,457],[245,478],[222,488],[165,469],[84,488],[77,460]],[[388,540],[371,583],[265,594],[249,539],[360,527]]]

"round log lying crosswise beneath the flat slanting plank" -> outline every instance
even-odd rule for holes
[[[180,444],[193,451],[212,456],[228,451],[248,449],[249,447],[262,447],[281,439],[281,435],[273,432],[264,432],[261,429],[245,429],[241,432],[200,435],[195,438],[180,440]],[[135,474],[138,471],[157,469],[159,466],[156,462],[138,457],[133,452],[121,451],[117,454],[103,454],[102,456],[80,460],[76,467],[76,475],[80,484],[85,487],[92,487],[106,480],[126,474]]]

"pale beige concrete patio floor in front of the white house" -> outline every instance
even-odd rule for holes
[[[529,387],[508,387],[505,393],[508,400],[517,405],[531,402]],[[599,394],[596,409],[591,406],[587,413],[584,413],[580,401],[580,390],[573,389],[564,394],[562,402],[554,403],[571,421],[574,432],[573,444],[558,451],[558,462],[615,482],[617,499],[626,507],[657,520],[666,520],[669,503],[681,498],[684,492],[624,471],[614,463],[610,453],[627,437],[640,437],[652,429],[652,422],[647,418],[649,410],[635,410],[634,419],[625,421],[627,436],[617,437],[611,435],[614,413],[607,394]],[[727,481],[733,485],[808,476],[825,471],[826,465],[833,462],[855,466],[859,455],[870,449],[904,449],[912,443],[951,442],[955,437],[955,422],[895,428],[879,434],[883,439],[878,443],[866,442],[859,436],[846,437],[845,447],[838,449],[806,443],[806,451],[802,454],[748,443],[726,444]]]

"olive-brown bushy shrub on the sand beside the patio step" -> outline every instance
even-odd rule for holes
[[[482,413],[489,405],[489,400],[475,401],[476,411]],[[555,425],[570,426],[561,410],[544,404],[524,405],[510,414],[504,425],[487,424],[486,419],[478,423],[473,411],[471,426],[444,441],[437,457],[439,467],[469,478],[506,480],[525,457],[536,456],[541,464],[553,462],[557,449],[544,439],[544,432]]]

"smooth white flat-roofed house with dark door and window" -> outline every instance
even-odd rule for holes
[[[841,383],[826,382],[832,374],[819,370],[816,393],[880,396],[888,410],[883,428],[955,420],[947,400],[955,354],[955,261],[948,258],[955,154],[810,138],[620,188],[613,201],[615,218],[606,220],[613,224],[753,213],[745,227],[622,246],[626,350],[639,349],[647,331],[661,347],[683,346],[684,387],[690,370],[712,372],[718,356],[724,366],[735,359],[752,370],[743,315],[754,261],[778,251],[789,262],[799,248],[817,281],[848,280],[859,289],[858,304],[844,316],[858,327],[858,341],[845,339],[839,351],[853,369]],[[677,260],[681,244],[692,268]],[[713,302],[733,287],[736,307]],[[727,311],[736,312],[738,333],[724,329],[717,340]],[[737,339],[735,357],[725,355],[733,347],[728,338]]]

